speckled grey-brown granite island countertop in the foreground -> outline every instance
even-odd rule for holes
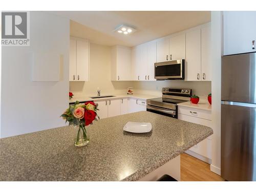
[[[127,121],[151,122],[146,134]],[[90,144],[75,147],[72,126],[0,139],[1,181],[136,181],[213,132],[207,126],[137,112],[90,125]]]

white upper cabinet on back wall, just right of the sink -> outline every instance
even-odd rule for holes
[[[111,49],[111,80],[131,80],[131,49],[115,46]]]

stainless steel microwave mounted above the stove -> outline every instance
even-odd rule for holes
[[[155,63],[155,79],[184,79],[185,59]]]

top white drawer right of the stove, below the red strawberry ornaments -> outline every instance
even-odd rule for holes
[[[187,108],[186,106],[178,106],[178,113],[192,117],[211,120],[211,111]]]

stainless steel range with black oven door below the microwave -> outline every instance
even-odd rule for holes
[[[162,97],[148,99],[146,101],[146,111],[178,118],[178,103],[190,100],[191,89],[163,88]]]

